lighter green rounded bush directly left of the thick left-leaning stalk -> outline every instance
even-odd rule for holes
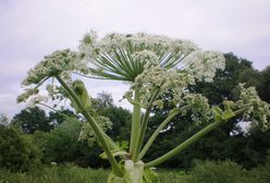
[[[108,167],[107,160],[99,157],[102,150],[96,144],[89,147],[87,141],[78,141],[81,126],[82,122],[68,119],[50,133],[36,131],[33,136],[42,151],[41,161],[47,164],[57,162],[79,167]]]

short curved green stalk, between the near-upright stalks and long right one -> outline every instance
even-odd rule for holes
[[[155,139],[157,138],[157,136],[159,135],[160,131],[162,131],[164,129],[164,126],[175,117],[180,113],[180,110],[173,111],[172,113],[169,114],[169,117],[167,117],[167,119],[159,125],[159,127],[154,132],[154,134],[151,135],[151,137],[148,139],[148,142],[146,143],[145,147],[143,148],[143,150],[140,151],[140,154],[138,155],[138,159],[142,159],[145,154],[147,152],[147,150],[150,148],[150,146],[152,145],[152,143],[155,142]]]

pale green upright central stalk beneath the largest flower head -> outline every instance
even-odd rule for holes
[[[130,146],[130,154],[133,159],[134,150],[136,148],[136,144],[138,141],[139,127],[140,127],[140,106],[139,103],[139,90],[136,88],[134,91],[134,101],[136,103],[133,105],[133,113],[132,113],[132,133],[131,133],[131,146]],[[134,159],[133,159],[134,160]]]

